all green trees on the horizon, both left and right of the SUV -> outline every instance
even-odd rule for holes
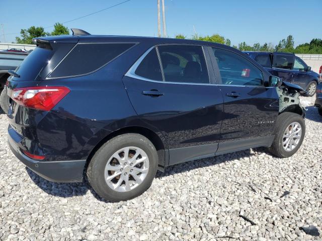
[[[54,25],[54,30],[52,32],[45,32],[43,27],[32,26],[29,29],[22,29],[20,31],[21,37],[16,37],[16,42],[18,44],[32,44],[32,39],[43,36],[53,36],[53,35],[68,35],[69,30],[67,27],[60,23]],[[176,39],[193,39],[214,42],[219,44],[225,44],[231,46],[231,41],[228,38],[224,38],[219,34],[200,36],[195,34],[191,38],[187,38],[183,34],[178,34]],[[248,45],[246,42],[241,42],[238,46],[231,46],[233,48],[239,49],[240,51],[267,51],[267,52],[287,52],[295,54],[322,54],[322,39],[312,39],[309,43],[300,44],[294,47],[294,38],[292,35],[287,36],[286,39],[279,41],[278,45],[274,46],[272,43],[255,43],[253,46]]]

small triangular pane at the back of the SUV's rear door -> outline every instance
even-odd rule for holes
[[[162,72],[155,48],[139,64],[135,74],[143,78],[162,81]]]

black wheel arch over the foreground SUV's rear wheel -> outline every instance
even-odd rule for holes
[[[111,140],[114,137],[117,137],[122,134],[127,134],[127,133],[140,134],[140,135],[146,137],[147,139],[149,139],[150,142],[152,142],[152,144],[154,145],[154,147],[156,149],[157,156],[158,156],[158,170],[163,171],[166,166],[166,163],[169,160],[168,149],[165,147],[165,144],[162,141],[162,139],[155,132],[151,131],[148,128],[139,127],[139,126],[124,127],[119,130],[116,130],[114,132],[111,132],[105,138],[103,138],[94,147],[94,149],[91,151],[89,157],[87,158],[85,170],[87,170],[88,164],[90,163],[94,154],[97,152],[98,149],[100,149],[104,145],[104,143],[106,143],[107,141]]]

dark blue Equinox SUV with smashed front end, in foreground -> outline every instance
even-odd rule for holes
[[[73,31],[34,39],[6,88],[10,148],[47,180],[85,173],[126,200],[167,166],[255,147],[290,157],[303,141],[305,91],[236,49]]]

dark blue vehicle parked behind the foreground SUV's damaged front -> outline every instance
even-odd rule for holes
[[[244,52],[257,61],[272,75],[283,81],[299,85],[308,92],[315,94],[316,86],[320,82],[319,74],[311,70],[303,60],[291,53],[281,52]]]

